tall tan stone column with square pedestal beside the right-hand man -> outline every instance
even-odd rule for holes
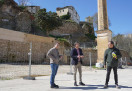
[[[97,52],[98,59],[96,66],[101,67],[104,61],[104,52],[108,48],[108,42],[112,38],[112,31],[109,30],[107,2],[98,0],[98,30],[97,33]]]

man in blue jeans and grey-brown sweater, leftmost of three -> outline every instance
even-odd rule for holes
[[[59,88],[59,86],[54,82],[59,67],[58,63],[62,59],[62,56],[59,55],[58,49],[59,43],[56,43],[55,46],[51,48],[47,53],[47,56],[50,58],[50,66],[52,71],[50,78],[51,88]]]

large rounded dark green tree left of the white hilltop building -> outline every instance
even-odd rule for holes
[[[62,20],[55,12],[46,12],[46,9],[41,9],[35,15],[35,22],[43,31],[49,32],[62,25]]]

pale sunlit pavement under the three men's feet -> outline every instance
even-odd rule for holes
[[[49,85],[50,76],[37,77],[36,80],[0,80],[0,91],[132,91],[132,67],[118,69],[119,85],[121,89],[114,86],[114,75],[111,72],[111,79],[108,89],[103,89],[106,70],[91,70],[83,72],[83,82],[86,86],[73,86],[73,76],[59,74],[56,76],[56,84],[59,89],[51,89]],[[78,77],[78,76],[77,76]]]

